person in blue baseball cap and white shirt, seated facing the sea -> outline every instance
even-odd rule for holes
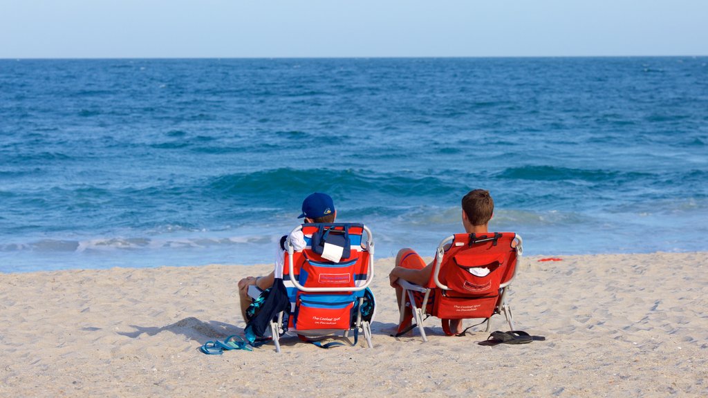
[[[304,218],[305,223],[331,223],[337,217],[337,210],[334,208],[334,202],[330,195],[326,193],[315,192],[309,195],[302,201],[302,214],[297,218]],[[282,267],[285,264],[285,239],[283,236],[278,242],[278,247],[275,249],[275,266]],[[290,234],[290,243],[293,248],[302,250],[305,247],[305,239],[302,231],[296,231]],[[257,288],[265,290],[273,286],[275,273],[271,271],[268,275],[253,277],[249,276],[239,280],[239,298],[241,300],[241,315],[246,321],[246,309],[253,301],[249,296],[249,286],[256,285]]]

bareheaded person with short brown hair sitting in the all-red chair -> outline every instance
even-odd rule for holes
[[[462,226],[468,234],[484,234],[488,231],[489,220],[494,213],[494,200],[489,195],[489,191],[475,189],[469,191],[462,198]],[[423,258],[415,250],[405,248],[399,250],[396,255],[396,266],[389,273],[389,283],[396,289],[396,300],[401,308],[403,290],[396,283],[399,278],[415,283],[416,285],[427,285],[430,275],[433,273],[435,261],[426,265]],[[406,309],[410,311],[410,309]],[[450,329],[454,333],[462,332],[462,320],[451,319]]]

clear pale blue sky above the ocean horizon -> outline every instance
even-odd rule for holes
[[[707,0],[0,0],[0,58],[708,55]]]

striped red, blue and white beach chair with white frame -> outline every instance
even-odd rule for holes
[[[329,348],[338,342],[321,344],[318,340],[353,333],[353,346],[359,333],[372,348],[371,320],[375,302],[368,288],[374,277],[374,241],[364,224],[302,224],[288,236],[302,230],[306,245],[295,251],[285,241],[287,255],[282,269],[275,269],[276,281],[282,278],[290,307],[270,322],[275,351],[280,352],[280,335]]]

